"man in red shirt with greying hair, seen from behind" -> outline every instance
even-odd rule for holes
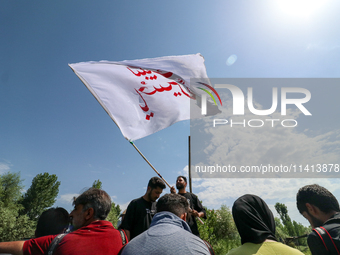
[[[110,196],[103,190],[90,188],[78,196],[73,204],[70,217],[74,232],[63,237],[54,254],[118,254],[123,247],[121,234],[110,222],[105,221],[111,209]],[[44,255],[55,237],[50,235],[0,243],[0,253]]]

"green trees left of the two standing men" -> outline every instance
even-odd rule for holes
[[[55,174],[36,175],[26,192],[22,181],[20,173],[0,175],[0,242],[34,237],[39,216],[57,200],[60,182]],[[101,188],[102,183],[96,180],[92,187]],[[116,226],[119,215],[119,205],[112,203],[107,220]]]

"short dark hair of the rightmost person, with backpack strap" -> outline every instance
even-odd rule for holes
[[[296,206],[299,212],[308,212],[306,203],[318,207],[322,212],[339,212],[339,203],[334,195],[318,184],[306,185],[296,194]]]

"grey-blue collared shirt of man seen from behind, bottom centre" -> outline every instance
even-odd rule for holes
[[[189,225],[170,212],[157,213],[150,228],[129,242],[122,255],[178,255],[210,252],[202,239],[191,233]]]

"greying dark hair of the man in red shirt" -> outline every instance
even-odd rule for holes
[[[75,198],[73,205],[83,205],[83,211],[93,208],[95,219],[105,220],[111,210],[111,198],[101,189],[89,188],[80,196]]]

